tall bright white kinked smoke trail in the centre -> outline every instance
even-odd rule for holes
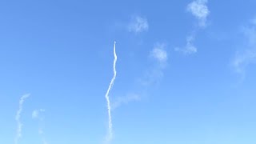
[[[118,60],[118,57],[117,57],[117,54],[115,53],[115,43],[116,42],[114,41],[114,63],[113,63],[114,76],[111,79],[110,86],[107,89],[106,95],[105,95],[106,102],[107,102],[107,111],[108,111],[108,116],[109,116],[109,123],[108,123],[109,124],[109,129],[108,129],[108,135],[106,137],[108,142],[111,141],[112,136],[113,136],[113,132],[112,132],[112,118],[111,118],[111,106],[110,106],[109,94],[110,94],[110,90],[111,90],[112,86],[114,85],[114,80],[115,80],[116,75],[117,75],[117,71],[115,70],[115,65],[116,65],[116,62]]]

